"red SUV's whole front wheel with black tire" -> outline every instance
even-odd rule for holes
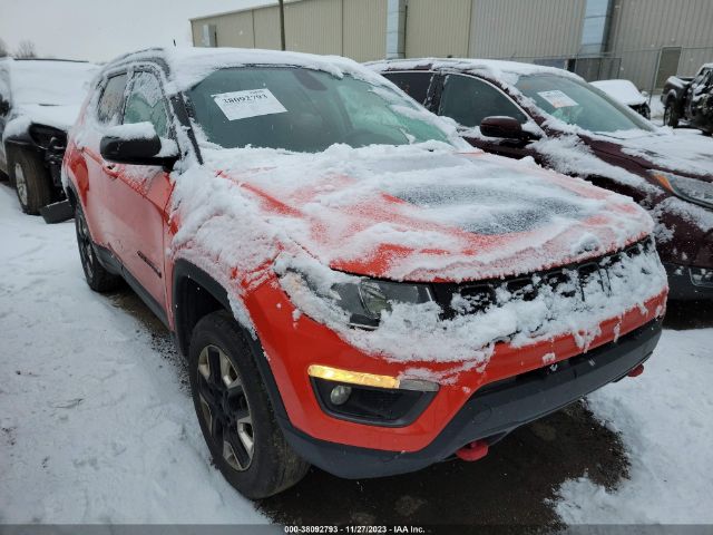
[[[280,429],[247,335],[224,311],[204,317],[193,331],[188,370],[213,461],[238,493],[258,499],[297,484],[310,465]]]

